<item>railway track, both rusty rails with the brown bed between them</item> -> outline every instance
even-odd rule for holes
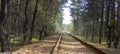
[[[77,42],[77,44],[75,44],[75,42]],[[107,53],[67,33],[65,35],[62,34],[59,35],[59,38],[50,54],[107,54]]]

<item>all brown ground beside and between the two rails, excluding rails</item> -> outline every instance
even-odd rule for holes
[[[58,35],[49,36],[40,42],[23,46],[20,49],[13,51],[12,54],[50,54],[58,37]],[[76,37],[80,38],[79,36]],[[59,54],[97,54],[92,51],[92,49],[88,49],[83,44],[66,34],[62,36],[62,41],[60,43],[61,44],[58,51]],[[99,44],[90,42],[86,43],[89,43],[90,45],[93,45],[104,52],[108,52],[108,54],[120,54],[120,52],[117,50],[107,49]]]

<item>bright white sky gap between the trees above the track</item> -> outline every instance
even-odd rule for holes
[[[65,5],[66,6],[70,6],[72,2],[69,0],[68,3],[66,3]],[[71,23],[71,20],[72,20],[72,17],[70,16],[70,8],[63,8],[63,24],[70,24]]]

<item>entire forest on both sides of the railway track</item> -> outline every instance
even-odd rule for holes
[[[70,6],[65,4],[70,1]],[[67,32],[120,49],[120,0],[0,0],[0,49],[10,52]],[[70,24],[63,24],[63,8]]]

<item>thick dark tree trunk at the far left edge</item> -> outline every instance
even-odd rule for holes
[[[10,51],[8,35],[6,35],[3,32],[3,25],[4,25],[5,13],[6,13],[6,4],[7,4],[7,0],[1,0],[0,41],[1,41],[1,51],[2,52]]]

